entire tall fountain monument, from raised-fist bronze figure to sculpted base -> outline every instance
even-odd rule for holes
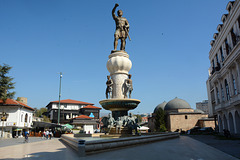
[[[128,53],[125,51],[126,39],[129,38],[129,23],[126,18],[122,17],[122,10],[117,11],[119,5],[115,4],[112,9],[112,17],[116,23],[114,34],[114,50],[108,56],[107,69],[110,76],[107,76],[106,82],[106,99],[99,101],[102,107],[111,111],[107,117],[102,119],[106,132],[110,134],[121,134],[129,136],[135,130],[137,134],[137,120],[135,116],[128,116],[128,111],[135,109],[141,102],[138,99],[132,99],[133,90],[132,75],[129,74],[132,68],[132,62]],[[118,48],[118,40],[121,40],[120,50]],[[129,97],[129,98],[128,98]]]

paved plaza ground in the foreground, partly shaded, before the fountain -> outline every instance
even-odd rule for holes
[[[0,141],[2,142],[2,141]],[[44,160],[237,160],[220,150],[187,136],[180,138],[131,146],[78,157],[76,152],[60,139],[0,147],[0,159],[44,159]]]

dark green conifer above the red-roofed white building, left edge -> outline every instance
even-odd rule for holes
[[[5,103],[8,98],[13,99],[15,95],[15,92],[10,92],[10,90],[15,88],[15,82],[12,82],[12,77],[7,76],[11,69],[12,67],[7,64],[0,65],[0,99],[3,100],[3,103]]]

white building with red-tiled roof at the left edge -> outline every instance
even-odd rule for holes
[[[3,103],[3,101],[0,100],[0,137],[12,138],[22,136],[25,130],[31,128],[33,112],[33,108],[20,101],[7,99],[6,102]]]

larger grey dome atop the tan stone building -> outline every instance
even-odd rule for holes
[[[169,101],[164,110],[176,110],[176,109],[191,109],[191,106],[183,99],[174,98]]]

